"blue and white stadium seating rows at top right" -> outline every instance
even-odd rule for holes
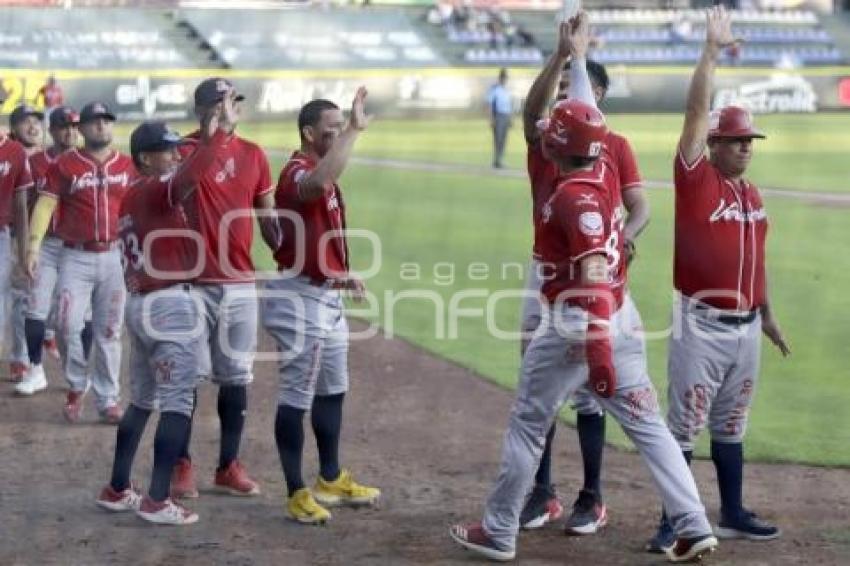
[[[605,63],[692,64],[705,37],[699,10],[600,9],[590,14],[597,36],[594,57]],[[425,20],[431,29],[423,34],[441,42],[450,60],[467,64],[539,64],[543,53],[537,45],[554,41],[551,11],[505,13],[466,6],[459,15],[457,8],[439,4],[427,10]],[[736,10],[733,21],[745,43],[740,53],[727,55],[728,64],[795,67],[845,60],[812,11]]]

